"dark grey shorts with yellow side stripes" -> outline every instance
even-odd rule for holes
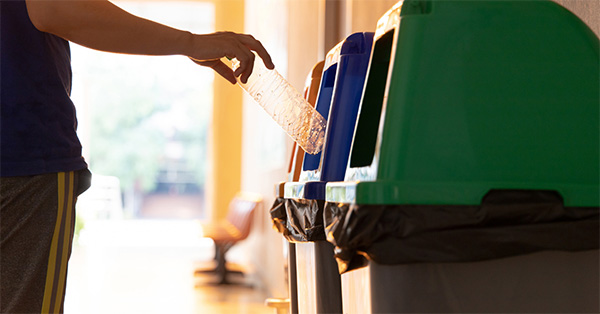
[[[0,313],[62,313],[88,170],[0,178]]]

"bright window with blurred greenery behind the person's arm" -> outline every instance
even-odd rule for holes
[[[159,23],[214,32],[214,5],[203,2],[115,2]],[[71,44],[72,98],[84,156],[98,176],[114,176],[127,195],[203,191],[212,107],[212,70],[183,56],[132,56]]]

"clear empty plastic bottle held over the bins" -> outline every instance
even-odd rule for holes
[[[233,70],[239,67],[232,60]],[[238,84],[279,124],[305,152],[318,154],[325,140],[327,121],[276,70],[255,57],[254,69],[246,84]]]

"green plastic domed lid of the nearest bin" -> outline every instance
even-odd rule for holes
[[[599,41],[551,1],[404,1],[378,24],[346,182],[327,200],[599,206]]]

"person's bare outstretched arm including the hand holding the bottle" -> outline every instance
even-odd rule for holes
[[[250,35],[232,32],[196,35],[134,16],[108,0],[26,0],[33,25],[89,48],[118,53],[190,57],[235,84],[246,82],[256,53],[268,68],[274,65],[262,44]],[[237,58],[234,74],[220,58]]]

